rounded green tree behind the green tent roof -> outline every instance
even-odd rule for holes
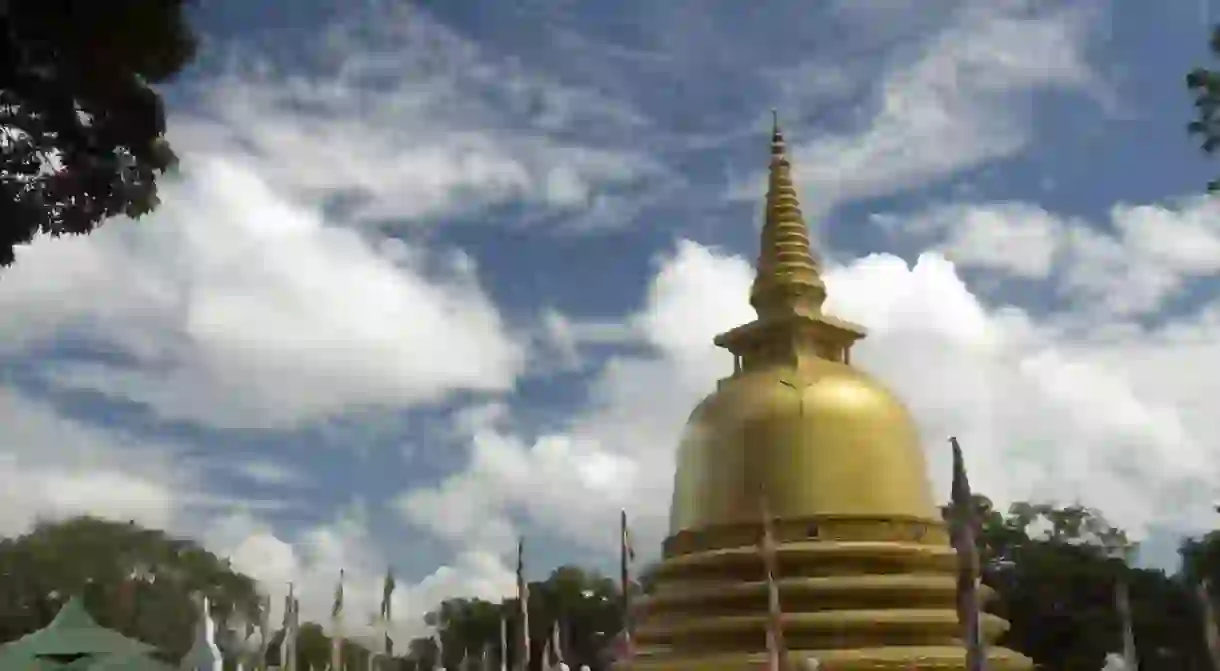
[[[161,531],[76,517],[0,540],[0,642],[45,627],[81,594],[99,625],[177,659],[194,640],[195,593],[220,621],[237,612],[257,621],[253,578]]]

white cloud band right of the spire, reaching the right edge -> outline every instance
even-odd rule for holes
[[[1050,281],[1088,318],[1154,314],[1192,281],[1220,273],[1220,222],[1210,198],[1116,205],[1104,222],[1026,203],[953,204],[878,217],[966,268]]]

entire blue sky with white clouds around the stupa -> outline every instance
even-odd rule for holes
[[[160,210],[0,273],[0,533],[137,520],[317,621],[393,565],[404,634],[510,593],[518,536],[532,578],[609,570],[626,509],[655,558],[753,317],[776,109],[911,477],[947,498],[956,436],[977,492],[1172,569],[1220,495],[1211,10],[816,5],[207,2]]]

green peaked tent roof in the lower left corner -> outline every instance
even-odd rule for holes
[[[84,609],[84,603],[72,598],[45,628],[0,647],[0,669],[9,664],[45,655],[148,655],[156,649],[118,632],[104,630]]]

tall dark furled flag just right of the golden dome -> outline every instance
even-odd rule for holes
[[[949,536],[958,553],[958,621],[961,639],[966,644],[966,671],[983,671],[987,653],[983,648],[978,614],[978,550],[975,547],[974,495],[966,478],[966,464],[956,438],[949,438],[953,447],[953,487],[950,490]]]

